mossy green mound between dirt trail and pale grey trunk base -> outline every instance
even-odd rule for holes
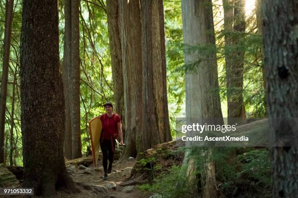
[[[177,187],[178,181],[186,181],[181,174],[185,148],[182,142],[155,148],[156,153],[138,162],[140,170],[149,174],[149,183],[139,190],[156,194],[157,198],[189,198],[189,189]]]

